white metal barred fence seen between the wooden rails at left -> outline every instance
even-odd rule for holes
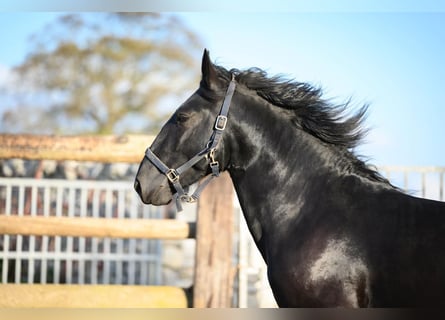
[[[0,178],[6,215],[160,218],[126,181]],[[0,236],[1,283],[161,284],[159,240]]]

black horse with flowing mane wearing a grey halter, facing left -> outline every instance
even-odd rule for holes
[[[445,204],[356,156],[366,107],[346,107],[204,51],[198,90],[147,149],[135,188],[147,204],[193,201],[202,187],[185,187],[227,170],[281,307],[441,306]]]

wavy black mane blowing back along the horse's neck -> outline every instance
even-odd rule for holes
[[[349,106],[348,102],[333,104],[322,98],[320,88],[308,83],[287,80],[281,76],[269,77],[259,68],[229,71],[221,66],[215,67],[218,76],[223,80],[228,82],[231,75],[235,74],[238,83],[254,90],[271,104],[291,111],[292,123],[341,153],[346,160],[342,164],[345,171],[391,185],[352,150],[361,143],[367,133],[363,128],[367,105],[347,117],[345,112]]]

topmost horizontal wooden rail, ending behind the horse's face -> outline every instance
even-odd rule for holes
[[[0,159],[138,163],[153,136],[0,135]]]

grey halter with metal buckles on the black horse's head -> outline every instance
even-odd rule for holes
[[[229,87],[227,88],[224,102],[215,120],[212,136],[207,142],[206,147],[199,151],[193,158],[191,158],[178,168],[173,169],[164,164],[162,160],[159,159],[153,153],[153,151],[151,151],[150,148],[147,148],[147,150],[145,151],[145,157],[167,177],[168,181],[175,188],[176,193],[173,195],[173,200],[175,200],[176,202],[176,208],[178,211],[182,211],[182,201],[188,203],[196,202],[201,195],[201,192],[209,184],[209,182],[213,178],[219,176],[219,162],[215,160],[215,150],[218,147],[222,134],[224,133],[227,125],[227,114],[229,112],[230,103],[232,102],[233,93],[235,92],[235,87],[235,75],[232,74],[232,80],[230,81]],[[204,180],[202,180],[202,182],[198,185],[192,195],[189,195],[187,192],[184,191],[184,188],[179,181],[180,176],[185,171],[193,167],[196,163],[198,163],[202,158],[207,158],[210,160],[209,166],[212,170],[212,173],[207,175]]]

